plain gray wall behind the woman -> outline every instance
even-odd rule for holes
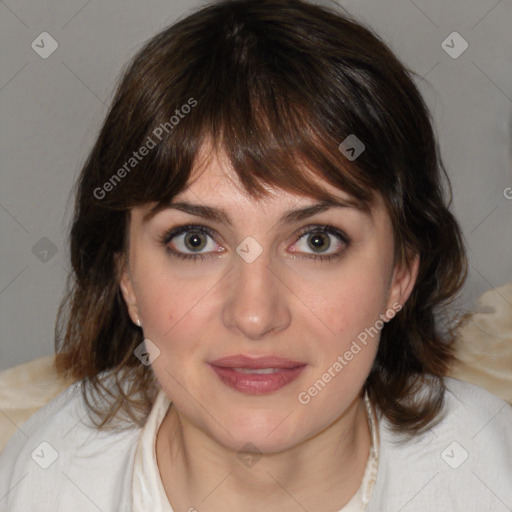
[[[121,67],[202,3],[0,1],[0,369],[53,354],[69,193]],[[457,307],[471,309],[482,293],[512,281],[512,1],[339,3],[426,79],[417,83],[437,125],[470,259]],[[47,59],[31,47],[42,32],[58,42]],[[452,32],[469,45],[456,59],[442,48]]]

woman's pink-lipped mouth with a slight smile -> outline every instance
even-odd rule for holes
[[[272,393],[290,384],[307,364],[291,359],[245,355],[228,356],[209,363],[222,383],[241,393]]]

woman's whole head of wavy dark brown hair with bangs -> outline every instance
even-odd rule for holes
[[[206,140],[253,197],[270,184],[329,199],[323,179],[363,208],[384,198],[395,263],[421,260],[409,300],[382,329],[365,390],[397,431],[417,434],[439,419],[454,356],[437,315],[461,288],[467,260],[413,74],[350,15],[301,0],[215,2],[135,55],[76,184],[73,270],[56,325],[56,367],[82,381],[98,428],[118,411],[142,425],[156,394],[151,367],[134,356],[143,334],[119,286],[130,209],[171,202]],[[352,134],[365,145],[357,159],[338,147]]]

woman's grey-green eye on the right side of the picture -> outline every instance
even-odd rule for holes
[[[350,244],[349,237],[338,228],[334,226],[320,226],[312,225],[302,228],[297,234],[299,237],[299,252],[306,252],[312,250],[313,254],[307,256],[300,256],[314,260],[331,260],[341,256],[344,249]],[[333,238],[337,241],[337,244],[342,248],[338,249],[334,253],[326,253],[333,245]],[[304,239],[304,240],[303,240]],[[336,242],[335,242],[336,243]],[[297,243],[295,244],[297,245]],[[296,252],[295,250],[293,252]]]

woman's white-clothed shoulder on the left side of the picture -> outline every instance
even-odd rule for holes
[[[0,455],[0,511],[119,508],[141,429],[100,431],[77,382],[39,409]],[[129,487],[128,487],[129,490]]]

